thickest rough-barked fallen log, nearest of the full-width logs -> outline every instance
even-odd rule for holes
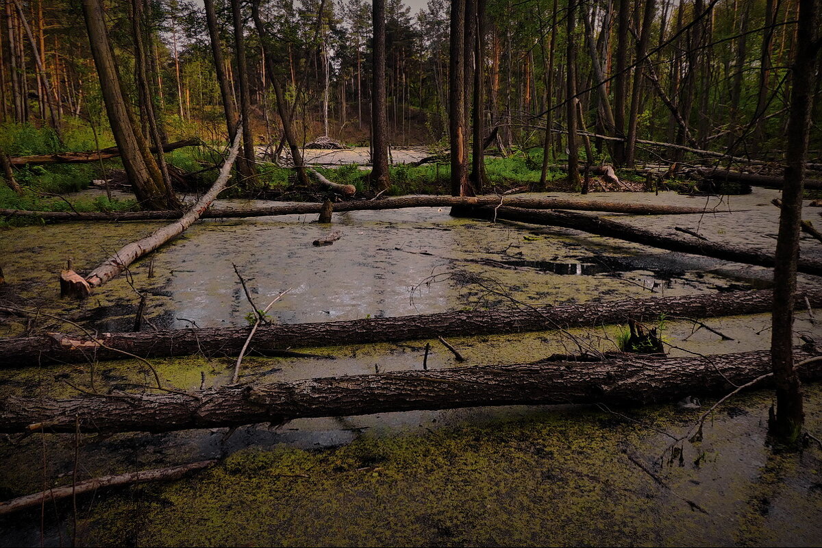
[[[822,353],[795,352],[803,382],[822,378]],[[723,394],[769,373],[770,352],[709,357],[623,357],[599,362],[543,361],[438,371],[345,375],[192,394],[10,397],[0,403],[0,432],[178,431],[302,417],[489,405],[608,403],[638,405]],[[732,383],[732,384],[731,384]]]

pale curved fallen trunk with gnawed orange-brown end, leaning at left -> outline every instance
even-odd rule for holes
[[[99,265],[96,269],[92,270],[88,276],[85,276],[82,282],[77,279],[79,275],[71,269],[63,270],[62,274],[60,274],[61,295],[87,297],[91,292],[91,288],[99,287],[110,279],[115,278],[135,260],[144,256],[146,253],[154,251],[165,242],[169,242],[169,240],[178,237],[185,232],[188,227],[192,226],[197,219],[200,219],[203,212],[209,208],[211,202],[215,200],[217,195],[223,191],[225,185],[229,182],[231,166],[234,160],[237,159],[240,148],[241,133],[239,130],[237,135],[238,136],[234,138],[231,150],[229,150],[229,157],[219,170],[219,177],[217,177],[214,185],[212,185],[208,192],[201,196],[200,200],[196,201],[196,204],[192,205],[192,208],[182,216],[182,219],[160,228],[148,237],[123,246],[113,256],[105,260],[102,265]]]

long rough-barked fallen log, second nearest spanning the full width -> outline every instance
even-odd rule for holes
[[[797,292],[797,308],[822,306],[822,288]],[[510,334],[572,327],[653,321],[660,315],[714,318],[760,314],[771,310],[773,292],[736,291],[679,297],[623,299],[612,302],[561,304],[541,308],[454,311],[394,318],[330,321],[310,324],[262,325],[253,349],[265,354],[284,348],[339,344],[390,343],[404,340],[465,335]],[[141,357],[206,355],[236,356],[250,327],[155,329],[150,332],[103,333],[96,338],[70,334],[0,339],[0,364],[7,367],[116,360],[129,352]]]

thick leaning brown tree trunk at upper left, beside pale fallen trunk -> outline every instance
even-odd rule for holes
[[[141,132],[136,131],[132,112],[122,92],[100,0],[83,0],[83,15],[106,113],[137,200],[150,210],[173,209],[174,204],[170,204],[166,196],[163,176]]]

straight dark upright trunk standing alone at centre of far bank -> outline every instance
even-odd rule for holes
[[[377,190],[390,186],[388,173],[388,113],[386,110],[386,1],[374,0],[372,7],[372,171]]]

